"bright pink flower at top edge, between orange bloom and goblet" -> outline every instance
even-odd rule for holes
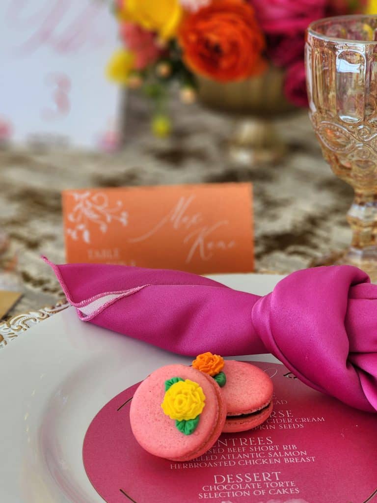
[[[267,35],[304,32],[325,15],[326,0],[249,0]]]

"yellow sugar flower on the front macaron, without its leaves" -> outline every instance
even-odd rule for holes
[[[189,421],[202,413],[206,397],[198,383],[185,379],[166,391],[161,407],[170,419]]]

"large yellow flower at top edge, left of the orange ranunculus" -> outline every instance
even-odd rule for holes
[[[166,40],[177,33],[182,13],[179,0],[126,0],[121,4],[119,15],[122,20],[157,32]]]

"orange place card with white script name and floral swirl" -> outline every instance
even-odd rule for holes
[[[67,262],[253,270],[248,183],[68,190],[63,213]]]

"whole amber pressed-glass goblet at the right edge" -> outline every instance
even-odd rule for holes
[[[377,16],[339,16],[306,34],[309,115],[322,153],[354,189],[351,246],[337,263],[377,280]]]

